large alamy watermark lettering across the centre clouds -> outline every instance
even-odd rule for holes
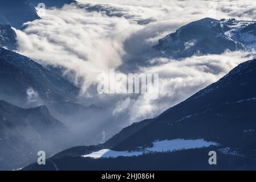
[[[109,75],[101,73],[97,76],[97,92],[99,94],[143,94],[148,100],[159,98],[158,73],[116,73],[110,69]]]

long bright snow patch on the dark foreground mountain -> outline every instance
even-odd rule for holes
[[[197,140],[184,140],[184,139],[174,139],[174,140],[163,140],[153,142],[153,147],[144,148],[137,151],[113,151],[109,149],[103,149],[97,152],[92,152],[88,155],[83,155],[83,158],[118,158],[131,157],[131,156],[140,156],[143,154],[149,154],[151,152],[173,152],[177,150],[188,150],[192,148],[203,148],[210,146],[218,146],[218,143],[207,142],[204,139]]]

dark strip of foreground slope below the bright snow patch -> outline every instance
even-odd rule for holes
[[[45,166],[32,164],[22,170],[33,171],[177,171],[177,170],[255,170],[255,160],[218,152],[217,165],[208,164],[209,151],[217,147],[145,154],[129,158],[91,159],[67,156],[46,160]]]

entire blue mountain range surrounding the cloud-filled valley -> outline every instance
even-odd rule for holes
[[[95,143],[95,133],[115,126],[103,108],[79,103],[79,88],[60,69],[13,52],[17,35],[12,27],[22,30],[23,23],[39,19],[35,7],[40,2],[49,8],[75,1],[0,0],[1,170],[35,162],[42,148],[46,165],[23,170],[256,169],[256,60],[238,65],[184,102],[133,123],[107,142],[68,148],[86,140]],[[251,50],[255,26],[254,21],[205,18],[160,39],[151,51],[179,59]],[[90,133],[81,127],[74,135],[71,126],[81,123],[95,128]],[[217,152],[217,166],[208,164],[209,151]]]

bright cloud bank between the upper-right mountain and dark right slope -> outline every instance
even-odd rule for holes
[[[140,97],[135,104],[128,106],[131,108],[131,121],[145,119],[144,116],[155,117],[218,81],[239,63],[253,59],[254,55],[243,51],[226,51],[222,55],[192,56],[181,60],[162,57],[152,60],[161,64],[141,67],[140,72],[159,73],[159,98],[148,101]]]

